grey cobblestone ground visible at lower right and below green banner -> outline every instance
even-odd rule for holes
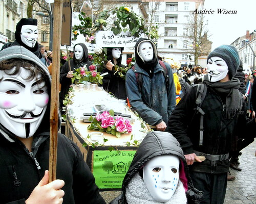
[[[242,171],[230,168],[234,181],[227,182],[224,204],[256,204],[256,140],[242,150],[239,162]],[[106,203],[120,194],[120,191],[100,192]]]

